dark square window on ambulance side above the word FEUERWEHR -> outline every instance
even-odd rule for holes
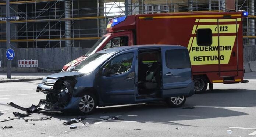
[[[211,29],[198,29],[196,31],[196,40],[198,46],[211,46],[213,43]]]

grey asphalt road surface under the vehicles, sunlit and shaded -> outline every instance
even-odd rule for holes
[[[256,79],[255,73],[246,73],[249,83],[214,84],[213,91],[187,98],[181,108],[168,108],[164,102],[101,107],[86,116],[85,126],[76,123],[76,129],[62,122],[78,117],[72,113],[33,113],[25,119],[52,116],[50,120],[28,121],[14,119],[0,122],[0,136],[235,136],[252,137],[256,134]],[[12,112],[24,113],[7,105],[14,102],[22,107],[37,105],[45,98],[36,93],[39,81],[0,83],[0,120],[14,118]],[[183,109],[195,106],[193,109]],[[100,116],[117,116],[124,119],[102,120]],[[60,120],[61,119],[61,120]],[[34,125],[33,125],[34,124]],[[227,130],[232,130],[228,134]],[[253,135],[254,134],[254,135]]]

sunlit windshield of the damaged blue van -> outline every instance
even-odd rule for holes
[[[90,55],[79,65],[77,65],[73,71],[81,73],[89,73],[94,71],[100,64],[107,60],[112,54],[110,53],[95,53]]]

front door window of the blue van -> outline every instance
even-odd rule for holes
[[[131,69],[133,57],[133,53],[119,55],[107,63],[104,68],[106,68],[109,75],[124,73]]]

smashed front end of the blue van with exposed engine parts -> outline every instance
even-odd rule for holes
[[[47,111],[71,109],[71,105],[75,101],[75,98],[72,98],[72,94],[76,83],[75,76],[61,77],[59,79],[57,77],[47,77],[43,79],[36,92],[44,93],[46,99],[40,100],[38,108]]]

